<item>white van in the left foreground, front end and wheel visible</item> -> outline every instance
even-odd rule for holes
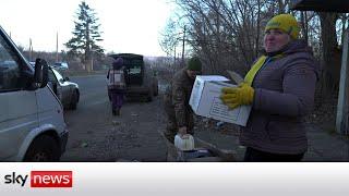
[[[35,70],[0,27],[0,161],[59,161],[68,130],[47,86],[48,64]]]

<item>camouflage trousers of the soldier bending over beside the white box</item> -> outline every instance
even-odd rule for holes
[[[167,114],[167,125],[166,125],[166,131],[164,132],[166,138],[173,143],[174,136],[178,132],[178,124],[177,124],[177,119],[176,119],[176,111],[174,107],[170,101],[166,100],[164,101],[165,106],[165,111]],[[185,126],[186,126],[186,133],[194,135],[194,118],[192,112],[190,112],[190,108],[188,109],[189,112],[185,112]]]

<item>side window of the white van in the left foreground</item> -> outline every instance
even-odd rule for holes
[[[15,61],[15,54],[0,36],[0,91],[15,90],[20,88],[20,66]]]

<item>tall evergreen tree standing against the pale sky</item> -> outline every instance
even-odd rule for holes
[[[104,49],[97,44],[103,41],[98,30],[100,24],[97,23],[98,19],[94,9],[91,9],[85,1],[79,4],[76,17],[75,28],[72,32],[73,37],[65,44],[69,49],[68,54],[80,57],[82,62],[87,65],[87,71],[91,71],[93,56],[104,53]]]

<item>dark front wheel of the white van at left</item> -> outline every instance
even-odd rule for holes
[[[43,135],[33,140],[24,156],[27,162],[53,162],[59,161],[60,151],[57,142],[48,136]]]

